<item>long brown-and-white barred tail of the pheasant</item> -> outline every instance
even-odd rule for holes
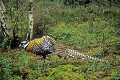
[[[84,57],[84,58],[97,60],[97,61],[100,61],[100,62],[107,62],[107,60],[102,60],[102,59],[99,59],[99,58],[89,56],[85,53],[78,52],[76,50],[68,49],[63,44],[60,44],[57,41],[55,41],[52,37],[48,37],[48,39],[49,39],[50,43],[53,44],[53,46],[51,46],[52,47],[51,48],[52,52],[57,53],[57,55],[60,55],[60,56],[68,55],[68,56],[71,56],[71,57],[80,57],[81,56],[81,57]]]

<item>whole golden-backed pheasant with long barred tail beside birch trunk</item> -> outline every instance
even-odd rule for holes
[[[46,55],[55,53],[58,56],[71,56],[71,57],[79,57],[82,56],[84,58],[98,60],[101,62],[107,62],[106,60],[102,60],[99,58],[95,58],[84,53],[80,53],[76,50],[68,49],[63,44],[57,42],[50,36],[43,36],[42,38],[33,39],[29,42],[22,41],[21,46],[25,48],[25,50],[35,53],[36,55],[40,55],[43,58],[46,58]]]

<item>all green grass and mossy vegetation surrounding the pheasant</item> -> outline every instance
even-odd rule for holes
[[[77,6],[64,5],[62,1],[65,0],[35,0],[33,14],[36,33],[42,31],[65,46],[110,63],[71,57],[64,59],[50,54],[43,67],[39,56],[24,50],[9,50],[0,53],[0,80],[120,79],[120,6],[107,0],[106,3],[93,0],[87,5]],[[26,15],[21,18],[23,24],[19,22],[18,28],[26,29],[28,26]],[[12,22],[9,24],[16,25]],[[17,35],[23,36],[25,29]],[[7,38],[0,41],[0,47],[6,47],[7,41]]]

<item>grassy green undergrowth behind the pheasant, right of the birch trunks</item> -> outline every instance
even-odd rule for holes
[[[103,53],[119,54],[119,6],[91,3],[71,7],[57,1],[42,2],[35,3],[34,14],[35,27],[39,25],[44,35],[75,49],[101,47]]]

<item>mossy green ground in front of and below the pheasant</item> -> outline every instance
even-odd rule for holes
[[[6,55],[7,54],[7,55]],[[118,80],[119,55],[106,56],[110,63],[81,59],[59,58],[50,54],[43,64],[39,56],[24,50],[0,55],[0,80]]]

